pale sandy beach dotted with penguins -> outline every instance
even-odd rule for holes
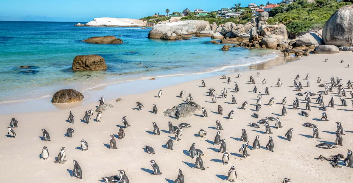
[[[290,178],[293,183],[311,183],[311,182],[352,182],[352,168],[343,166],[342,168],[333,168],[327,161],[317,160],[319,155],[329,157],[341,153],[345,157],[347,149],[353,150],[353,124],[352,124],[352,99],[347,89],[347,81],[352,79],[352,68],[347,68],[352,52],[340,52],[331,55],[310,55],[301,57],[298,61],[289,62],[279,66],[269,68],[269,66],[251,66],[250,71],[234,72],[227,75],[231,78],[231,83],[227,84],[225,79],[220,76],[204,78],[206,87],[200,87],[201,81],[190,81],[174,86],[158,88],[149,92],[136,95],[127,95],[122,97],[122,101],[115,102],[120,97],[107,97],[105,103],[110,103],[114,108],[104,111],[102,121],[96,122],[96,112],[91,116],[89,124],[81,122],[84,112],[89,109],[95,110],[99,105],[97,102],[85,103],[83,105],[67,108],[63,106],[56,111],[20,113],[13,108],[13,113],[0,115],[1,126],[4,136],[0,141],[2,153],[0,154],[0,165],[2,173],[0,182],[9,182],[10,179],[16,179],[16,182],[99,182],[100,177],[118,175],[118,170],[125,170],[131,183],[134,182],[168,182],[172,183],[177,178],[178,171],[181,169],[185,176],[185,182],[192,183],[225,183],[228,182],[227,174],[232,165],[235,166],[238,178],[235,182],[273,182],[280,183],[284,178]],[[324,62],[328,58],[328,62]],[[283,56],[278,57],[285,62]],[[339,62],[345,62],[340,64]],[[272,66],[272,65],[271,65]],[[259,67],[259,68],[256,68]],[[262,70],[264,69],[264,70]],[[256,72],[260,76],[256,76]],[[293,79],[300,73],[303,89],[301,93],[310,91],[316,93],[324,90],[318,87],[319,84],[329,84],[331,76],[339,77],[346,89],[347,107],[342,106],[337,89],[323,97],[325,105],[333,96],[335,100],[334,108],[327,107],[329,121],[321,121],[322,110],[315,102],[318,95],[311,97],[311,111],[309,117],[300,115],[300,111],[305,109],[305,95],[295,95]],[[310,74],[309,80],[304,80],[306,74]],[[240,78],[236,78],[241,74]],[[249,122],[256,123],[259,119],[251,115],[255,112],[257,93],[253,93],[254,84],[249,82],[250,75],[254,76],[258,92],[265,93],[265,87],[269,88],[269,95],[262,97],[262,109],[259,112],[259,119],[265,119],[265,116],[280,117],[282,128],[274,128],[275,121],[269,121],[273,134],[263,134],[265,126],[258,124],[260,128],[249,126]],[[317,83],[317,77],[322,78],[321,83]],[[267,84],[260,84],[263,79]],[[277,80],[281,79],[283,86],[277,87]],[[311,86],[306,87],[306,82],[310,81]],[[155,81],[158,82],[158,78]],[[164,80],[164,82],[168,82]],[[234,82],[238,83],[239,92],[234,92]],[[228,96],[221,98],[221,90],[227,87]],[[211,96],[208,95],[208,89],[216,89],[217,103],[211,102]],[[128,88],[125,88],[128,90]],[[158,98],[159,89],[163,95]],[[179,98],[181,90],[185,91],[183,98]],[[103,90],[105,91],[105,90]],[[110,91],[110,94],[114,90]],[[164,116],[163,111],[183,103],[186,96],[191,93],[193,101],[201,107],[207,109],[208,117],[202,117],[202,112],[189,118],[180,118],[179,120]],[[100,93],[105,96],[104,92]],[[237,104],[232,104],[231,95],[235,96]],[[287,116],[281,115],[283,97],[287,96]],[[273,106],[267,105],[271,97],[275,97]],[[292,103],[295,97],[300,99],[300,109],[292,109]],[[240,109],[241,104],[249,101],[247,109]],[[50,102],[50,101],[48,101]],[[144,105],[143,110],[138,111],[136,102]],[[156,104],[158,113],[152,113],[153,104]],[[223,115],[217,114],[217,105],[223,107]],[[35,106],[31,106],[35,107]],[[41,106],[38,106],[40,108]],[[226,119],[227,114],[234,110],[234,119]],[[69,111],[75,116],[73,124],[66,122]],[[126,116],[131,125],[125,128],[126,137],[116,139],[118,149],[109,149],[109,135],[118,134],[119,126],[122,126],[121,118]],[[8,138],[7,126],[11,118],[19,121],[19,126],[13,128],[16,132],[16,138]],[[219,120],[223,126],[221,138],[226,140],[227,151],[230,153],[230,163],[223,165],[221,162],[222,153],[217,152],[219,145],[212,145],[217,130],[215,121]],[[174,149],[164,148],[164,144],[169,139],[174,139],[174,134],[168,133],[168,121],[173,125],[182,122],[190,124],[191,128],[183,128],[181,140],[173,140]],[[328,142],[335,143],[336,122],[340,121],[345,135],[343,135],[343,146],[337,146],[334,149],[320,149],[315,145]],[[161,130],[160,135],[152,134],[152,122],[156,122]],[[319,127],[319,137],[321,139],[311,138],[312,128],[304,127],[305,122],[311,122]],[[67,128],[73,128],[72,138],[65,137]],[[45,128],[51,141],[42,141],[42,131]],[[241,158],[239,148],[245,142],[240,141],[241,128],[246,129],[249,145],[252,146],[256,135],[260,135],[261,149],[250,150],[251,156]],[[287,141],[284,136],[289,128],[293,128],[292,141]],[[200,129],[207,131],[207,137],[201,138],[195,135]],[[274,141],[274,152],[265,148],[269,136]],[[88,151],[80,150],[80,140],[85,139],[89,144]],[[196,143],[196,148],[204,152],[202,156],[206,170],[199,170],[194,167],[195,158],[192,159],[187,151],[192,143]],[[154,148],[155,154],[148,154],[143,150],[144,145]],[[50,157],[47,160],[40,159],[40,153],[43,146],[47,146]],[[65,147],[65,164],[53,163],[59,153],[60,147]],[[82,168],[83,178],[71,177],[73,162],[77,160]],[[155,160],[159,165],[162,175],[151,175],[152,167],[149,160]],[[342,162],[340,162],[342,165]],[[13,182],[13,181],[11,181]]]

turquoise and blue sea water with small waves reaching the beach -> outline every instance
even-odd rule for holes
[[[62,88],[79,91],[119,81],[200,74],[264,62],[273,50],[209,44],[210,38],[166,41],[148,39],[138,27],[76,27],[64,22],[0,21],[0,103],[36,99]],[[113,35],[126,44],[98,45],[82,40]],[[76,55],[97,54],[107,70],[73,72]],[[142,66],[137,64],[142,62]],[[34,66],[20,69],[22,65]],[[144,66],[148,68],[145,69]],[[228,70],[230,71],[230,70]],[[192,76],[192,75],[191,75]]]

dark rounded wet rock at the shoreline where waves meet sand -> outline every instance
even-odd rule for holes
[[[70,103],[83,100],[83,95],[74,89],[62,89],[55,92],[52,103]]]

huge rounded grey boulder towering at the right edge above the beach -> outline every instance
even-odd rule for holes
[[[324,44],[351,46],[353,44],[353,5],[343,6],[326,21],[322,30]]]

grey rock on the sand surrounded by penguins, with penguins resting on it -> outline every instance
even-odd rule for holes
[[[201,106],[199,106],[195,102],[190,102],[190,104],[181,103],[178,106],[174,106],[171,109],[167,109],[166,111],[163,112],[163,114],[164,116],[174,116],[177,109],[180,112],[181,118],[187,118],[201,112]]]

